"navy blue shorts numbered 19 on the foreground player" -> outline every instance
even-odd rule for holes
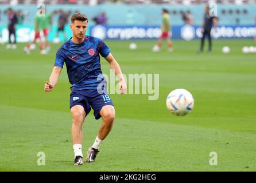
[[[91,108],[94,109],[94,117],[96,120],[101,117],[99,112],[103,106],[114,106],[110,96],[107,93],[99,94],[97,89],[72,91],[70,94],[69,108],[71,109],[75,105],[82,105],[86,116],[90,113]]]

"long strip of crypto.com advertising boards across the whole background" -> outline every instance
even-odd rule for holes
[[[68,26],[65,27],[66,33],[72,37],[72,32]],[[53,26],[48,39],[52,42],[57,32],[57,26]],[[17,42],[29,42],[34,38],[33,26],[17,27]],[[110,40],[132,40],[132,39],[157,39],[161,34],[158,26],[93,26],[87,29],[87,35]],[[220,26],[216,30],[212,29],[214,39],[239,39],[256,37],[256,29],[253,25],[248,26]],[[184,39],[192,41],[201,38],[201,29],[199,26],[173,26],[172,39]],[[43,34],[42,34],[43,37]],[[60,41],[64,41],[62,35],[59,35]],[[1,38],[1,37],[0,37]],[[1,42],[8,41],[8,31],[6,27],[2,30]]]

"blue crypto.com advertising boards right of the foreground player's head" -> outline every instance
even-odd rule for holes
[[[172,39],[191,41],[202,37],[200,26],[172,26]],[[159,26],[101,26],[91,27],[90,34],[101,39],[157,39],[161,35]],[[214,39],[237,39],[256,37],[256,28],[247,26],[219,26],[212,29]]]

